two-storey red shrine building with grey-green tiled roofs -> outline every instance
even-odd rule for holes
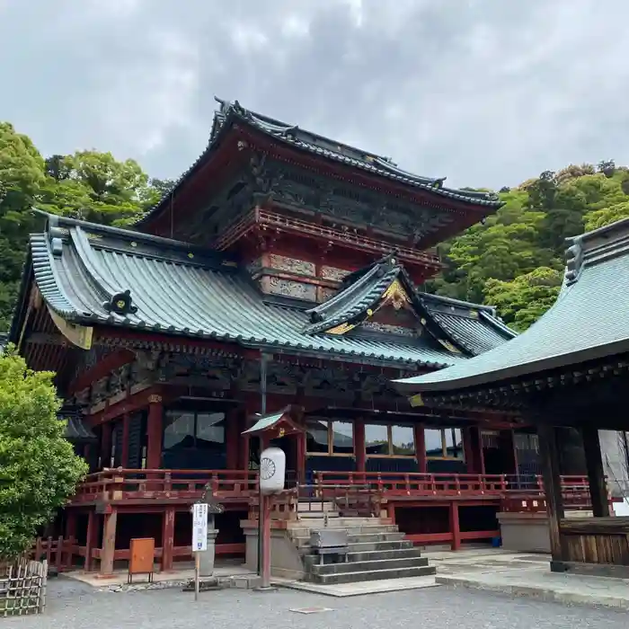
[[[420,545],[499,535],[509,478],[539,489],[535,431],[501,409],[413,407],[393,381],[514,338],[491,306],[421,289],[433,247],[500,207],[219,101],[206,150],[136,225],[48,216],[10,341],[56,372],[90,465],[54,533],[75,561],[108,574],[137,536],[164,570],[189,559],[208,483],[226,507],[217,554],[244,554],[261,417],[297,427],[270,435],[288,487],[376,488]]]

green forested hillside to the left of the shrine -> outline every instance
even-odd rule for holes
[[[44,158],[29,137],[0,122],[0,332],[11,323],[28,235],[41,228],[33,206],[123,226],[172,185],[149,180],[137,162],[118,162],[111,153]]]

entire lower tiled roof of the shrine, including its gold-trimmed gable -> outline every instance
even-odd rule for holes
[[[46,231],[31,236],[27,272],[32,272],[52,313],[68,323],[230,341],[399,368],[443,368],[466,362],[466,355],[478,348],[495,346],[513,335],[488,306],[416,292],[394,256],[352,274],[337,297],[306,312],[294,304],[269,303],[248,271],[222,252],[49,217]],[[418,327],[430,333],[409,338],[353,325],[370,316],[368,311],[403,294],[412,301]],[[20,329],[19,313],[12,338]],[[446,323],[439,323],[439,317]],[[337,322],[356,329],[333,333],[330,326]]]

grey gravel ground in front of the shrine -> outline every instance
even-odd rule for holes
[[[43,616],[0,620],[12,629],[329,629],[369,626],[435,629],[627,629],[629,614],[613,609],[564,607],[527,598],[509,598],[447,587],[363,597],[332,598],[297,590],[261,593],[243,589],[193,594],[180,589],[96,591],[74,580],[49,581]],[[298,607],[330,611],[302,615]]]

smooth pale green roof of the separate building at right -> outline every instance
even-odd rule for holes
[[[562,291],[526,332],[454,367],[399,380],[399,387],[452,391],[629,350],[629,219],[568,242]]]

